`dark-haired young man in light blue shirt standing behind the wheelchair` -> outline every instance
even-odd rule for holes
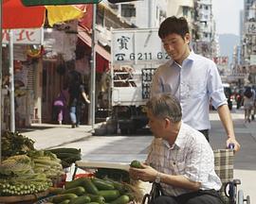
[[[155,71],[151,96],[159,93],[174,95],[181,104],[184,123],[201,131],[208,141],[211,99],[211,104],[218,111],[227,132],[226,145],[234,144],[235,151],[238,151],[240,144],[235,138],[218,69],[212,60],[199,56],[191,50],[191,35],[187,20],[175,16],[165,19],[158,29],[158,36],[171,59]]]

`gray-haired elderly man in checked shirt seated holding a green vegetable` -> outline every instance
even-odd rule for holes
[[[227,203],[220,195],[226,186],[222,187],[215,172],[210,144],[202,133],[181,121],[178,101],[170,94],[161,94],[146,106],[155,139],[141,168],[129,170],[131,178],[153,182],[151,194],[145,195],[142,203],[146,199],[149,204]],[[227,183],[228,195],[236,195],[239,181]]]

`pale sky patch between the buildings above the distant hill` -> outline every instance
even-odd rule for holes
[[[239,35],[240,10],[244,0],[212,0],[213,18],[217,34]]]

